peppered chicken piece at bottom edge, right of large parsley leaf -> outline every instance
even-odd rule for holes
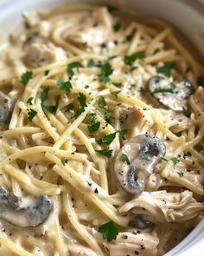
[[[119,233],[117,240],[112,243],[105,243],[110,256],[139,255],[156,256],[159,240],[150,233]]]

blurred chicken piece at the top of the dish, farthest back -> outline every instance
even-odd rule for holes
[[[104,43],[112,32],[112,16],[105,7],[94,10],[92,13],[93,23],[86,24],[83,30],[70,32],[67,40],[77,44],[84,44],[89,47],[94,47],[96,44]]]

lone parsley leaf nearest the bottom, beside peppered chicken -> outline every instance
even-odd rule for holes
[[[103,239],[111,242],[115,240],[118,235],[118,227],[113,221],[107,222],[102,226],[99,226],[99,233],[103,234]]]

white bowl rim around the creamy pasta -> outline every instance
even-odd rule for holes
[[[86,3],[86,0],[1,0],[0,31],[1,37],[13,32],[22,22],[22,12],[33,11],[39,7],[53,8],[61,3]],[[157,16],[175,24],[182,30],[195,47],[204,56],[204,0],[114,0],[97,1],[113,5],[124,4],[148,16]],[[4,34],[3,34],[4,33]],[[182,242],[165,256],[203,256],[204,255],[204,220],[196,226]]]

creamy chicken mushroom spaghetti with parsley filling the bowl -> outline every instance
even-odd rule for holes
[[[25,15],[1,48],[1,255],[163,255],[202,218],[204,67],[110,7]]]

